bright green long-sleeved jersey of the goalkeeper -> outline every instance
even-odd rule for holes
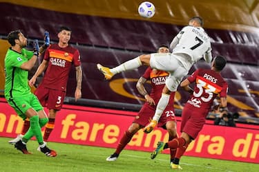
[[[30,94],[30,87],[28,85],[28,71],[21,69],[21,65],[30,60],[32,56],[33,52],[25,50],[24,48],[21,50],[21,53],[8,49],[5,58],[6,99]]]

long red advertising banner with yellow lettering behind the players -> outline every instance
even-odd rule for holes
[[[130,111],[64,105],[57,115],[55,129],[49,140],[115,148],[136,114]],[[181,118],[177,119],[179,130]],[[22,125],[21,118],[3,98],[0,98],[0,136],[14,138],[21,132]],[[257,125],[238,124],[238,127],[222,127],[207,121],[198,138],[189,145],[185,155],[258,163],[258,130]],[[153,151],[157,141],[167,139],[168,135],[164,129],[157,128],[149,134],[140,130],[133,136],[126,149]]]

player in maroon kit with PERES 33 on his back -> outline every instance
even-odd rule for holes
[[[186,148],[205,124],[207,114],[213,105],[216,96],[220,96],[221,111],[227,109],[227,83],[220,75],[227,61],[223,56],[213,58],[211,69],[198,69],[191,76],[186,78],[180,84],[187,92],[192,92],[189,100],[182,110],[182,124],[180,138],[175,138],[167,143],[158,142],[157,149],[151,154],[151,159],[155,158],[157,153],[164,149],[177,149],[175,159],[171,167],[173,169],[182,169],[179,165],[180,158],[186,151]],[[189,85],[195,83],[192,90]]]

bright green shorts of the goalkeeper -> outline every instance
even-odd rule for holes
[[[15,96],[13,98],[8,98],[8,104],[15,109],[17,115],[19,115],[23,120],[26,119],[26,111],[30,108],[35,109],[35,111],[40,111],[43,109],[41,103],[37,96],[34,94],[28,94],[26,96]]]

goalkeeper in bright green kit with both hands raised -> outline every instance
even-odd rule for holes
[[[46,49],[47,45],[43,45],[39,49],[38,41],[35,40],[33,52],[25,50],[23,47],[26,47],[27,39],[20,30],[10,32],[8,42],[11,47],[8,49],[5,58],[5,97],[8,104],[15,109],[23,120],[30,119],[30,129],[22,140],[15,143],[15,148],[24,154],[30,154],[26,143],[35,136],[39,143],[40,151],[47,156],[55,157],[57,155],[56,151],[46,146],[41,134],[41,127],[46,125],[48,117],[38,98],[30,92],[28,85],[28,70],[32,69],[39,54]]]

